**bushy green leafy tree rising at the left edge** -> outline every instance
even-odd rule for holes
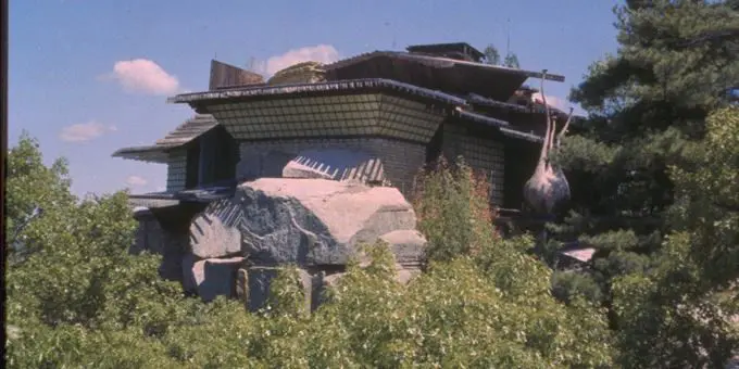
[[[5,270],[7,322],[14,333],[5,344],[10,366],[154,362],[136,351],[156,352],[147,342],[186,319],[195,305],[159,278],[156,257],[128,255],[135,224],[126,193],[77,203],[65,162],[47,167],[26,133],[10,150],[8,183],[11,220],[45,209],[20,232],[23,245],[12,255],[17,262]]]

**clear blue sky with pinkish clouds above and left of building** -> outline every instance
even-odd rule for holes
[[[511,50],[522,67],[566,77],[616,49],[613,5],[566,0],[14,0],[10,2],[9,133],[70,161],[73,191],[155,191],[164,165],[113,158],[192,115],[166,97],[208,88],[210,60],[274,69],[409,44],[466,41]],[[208,5],[206,5],[208,4]],[[508,20],[510,18],[510,23]],[[510,25],[510,26],[509,26]]]

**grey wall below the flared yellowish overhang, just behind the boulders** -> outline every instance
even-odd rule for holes
[[[241,180],[283,177],[283,168],[292,158],[308,151],[324,150],[326,154],[340,150],[356,151],[367,158],[381,162],[384,178],[400,189],[404,195],[411,193],[413,178],[426,161],[426,147],[419,143],[390,140],[385,138],[334,138],[334,139],[292,139],[263,142],[241,142],[240,157],[236,176]],[[338,160],[338,158],[337,158]],[[362,171],[360,161],[358,171]]]

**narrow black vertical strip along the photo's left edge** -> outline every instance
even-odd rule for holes
[[[2,0],[2,105],[0,106],[0,141],[2,141],[2,152],[0,152],[0,171],[2,171],[2,179],[0,179],[0,207],[2,208],[2,218],[0,218],[0,236],[2,237],[2,320],[5,319],[5,272],[8,270],[5,245],[5,178],[8,177],[8,0]],[[5,341],[5,330],[3,329],[3,341]]]

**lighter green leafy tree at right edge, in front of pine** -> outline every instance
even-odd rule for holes
[[[712,114],[707,129],[694,165],[672,170],[673,233],[654,267],[616,282],[625,366],[721,364],[739,347],[739,109]]]

